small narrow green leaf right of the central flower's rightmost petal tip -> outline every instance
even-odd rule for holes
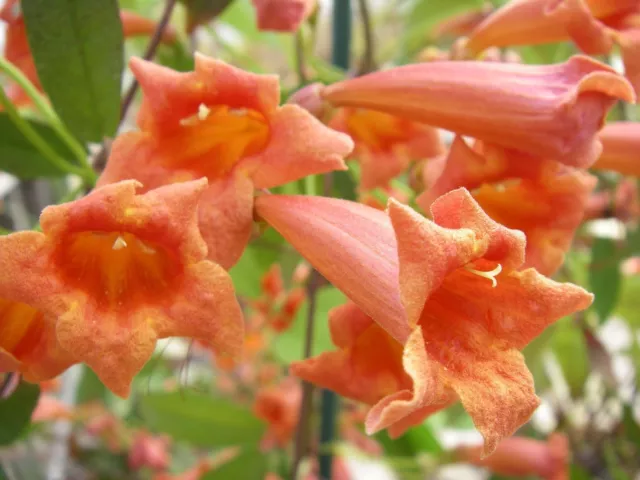
[[[593,308],[602,322],[613,312],[618,301],[622,279],[620,260],[613,240],[594,239],[589,266],[589,287],[595,295]]]

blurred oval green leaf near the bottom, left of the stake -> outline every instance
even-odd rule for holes
[[[142,397],[140,414],[150,429],[199,447],[256,445],[265,430],[248,408],[190,391]]]

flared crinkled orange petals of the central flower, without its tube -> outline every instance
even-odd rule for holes
[[[426,282],[417,282],[415,277],[435,277],[426,283],[433,288],[417,322],[431,362],[426,375],[440,378],[456,392],[485,437],[488,454],[538,405],[533,379],[518,350],[559,318],[587,308],[593,295],[533,269],[515,270],[524,261],[522,234],[491,220],[465,189],[434,202],[432,214],[436,224],[469,229],[481,241],[466,265],[456,268],[451,262],[449,271],[434,270],[430,267],[432,252],[445,246],[441,255],[459,255],[455,244],[444,235],[427,236],[429,220],[390,202],[401,290],[403,298],[411,292],[421,299]],[[468,247],[460,243],[464,255]],[[405,268],[407,264],[410,267]],[[416,265],[425,269],[420,272]],[[415,382],[414,375],[412,378]],[[414,387],[411,405],[402,404],[406,415],[431,404],[419,401],[416,392]]]

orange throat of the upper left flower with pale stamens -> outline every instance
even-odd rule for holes
[[[264,116],[249,109],[200,104],[194,115],[162,139],[173,167],[196,171],[210,180],[226,174],[242,158],[259,153],[269,140]]]

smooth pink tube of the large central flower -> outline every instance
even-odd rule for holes
[[[389,218],[346,200],[261,195],[256,213],[327,280],[401,343],[409,326],[398,291],[396,241]]]

